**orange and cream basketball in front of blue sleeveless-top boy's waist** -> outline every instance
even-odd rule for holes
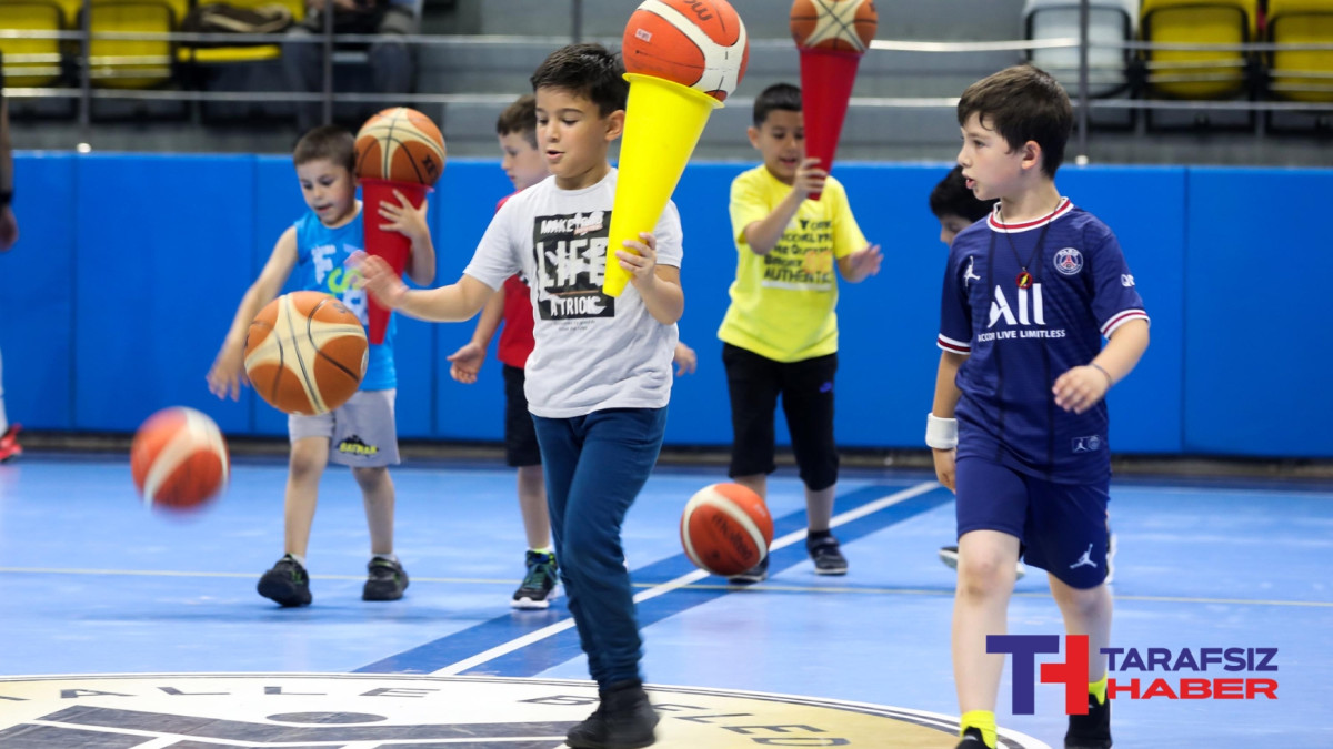
[[[284,413],[313,416],[343,405],[361,386],[365,328],[323,292],[292,292],[268,303],[245,335],[245,374]]]

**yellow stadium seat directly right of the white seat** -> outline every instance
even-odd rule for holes
[[[1256,39],[1258,0],[1144,0],[1144,41],[1245,44]],[[1224,99],[1249,83],[1252,55],[1242,51],[1149,49],[1148,85],[1177,99]]]

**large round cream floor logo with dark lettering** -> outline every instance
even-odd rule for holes
[[[649,686],[656,749],[948,749],[948,716],[805,697]],[[581,681],[380,674],[0,678],[0,746],[557,749],[592,712]],[[1005,749],[1049,749],[1001,732]]]

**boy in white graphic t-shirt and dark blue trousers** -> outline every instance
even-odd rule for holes
[[[459,283],[408,291],[379,259],[363,260],[372,295],[411,317],[467,320],[505,279],[531,280],[536,348],[528,408],[545,464],[560,577],[601,705],[569,730],[573,749],[653,744],[657,713],[643,689],[643,645],[620,526],[657,461],[672,386],[680,287],[680,215],[668,204],[652,233],[608,248],[625,123],[620,59],[597,44],[553,52],[532,76],[537,141],[551,177],[511,197]],[[607,252],[631,273],[603,293]]]

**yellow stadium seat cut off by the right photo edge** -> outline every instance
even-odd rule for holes
[[[1268,0],[1274,44],[1333,44],[1333,0]],[[1333,101],[1333,49],[1269,53],[1269,91],[1294,101]]]

